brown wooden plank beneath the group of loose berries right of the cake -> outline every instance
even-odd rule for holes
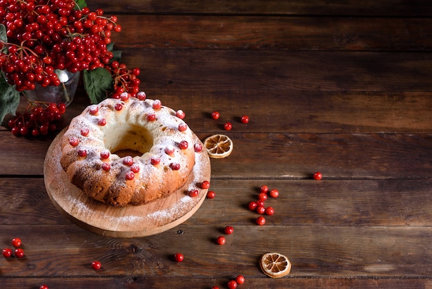
[[[247,205],[257,200],[262,185],[280,192],[278,198],[266,201],[266,206],[275,209],[275,215],[268,218],[273,225],[431,226],[431,178],[326,180],[325,175],[319,182],[213,179],[210,190],[216,198],[206,199],[186,224],[250,225],[257,214]],[[0,198],[3,225],[69,224],[52,205],[42,178],[0,178]]]

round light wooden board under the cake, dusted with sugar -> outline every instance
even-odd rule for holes
[[[70,183],[60,165],[60,138],[63,129],[53,140],[46,154],[43,175],[48,196],[55,207],[72,223],[84,229],[121,238],[159,234],[183,223],[202,205],[208,189],[201,189],[203,180],[210,180],[210,159],[203,149],[195,153],[195,167],[184,187],[166,198],[148,204],[113,207],[89,198]],[[200,142],[195,136],[195,141]],[[204,145],[203,145],[204,147]],[[190,189],[199,190],[199,196],[188,196]]]

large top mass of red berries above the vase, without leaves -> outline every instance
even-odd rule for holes
[[[55,69],[77,72],[104,67],[117,17],[101,9],[77,9],[74,0],[1,0],[0,23],[8,42],[1,45],[0,67],[17,91],[60,84]]]

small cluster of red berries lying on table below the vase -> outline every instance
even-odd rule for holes
[[[55,122],[65,112],[65,104],[29,102],[26,111],[17,113],[8,121],[8,126],[14,136],[46,136],[50,131],[55,131]]]

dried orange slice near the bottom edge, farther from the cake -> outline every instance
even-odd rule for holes
[[[281,278],[291,271],[291,262],[279,253],[266,253],[259,261],[262,272],[272,278]]]

